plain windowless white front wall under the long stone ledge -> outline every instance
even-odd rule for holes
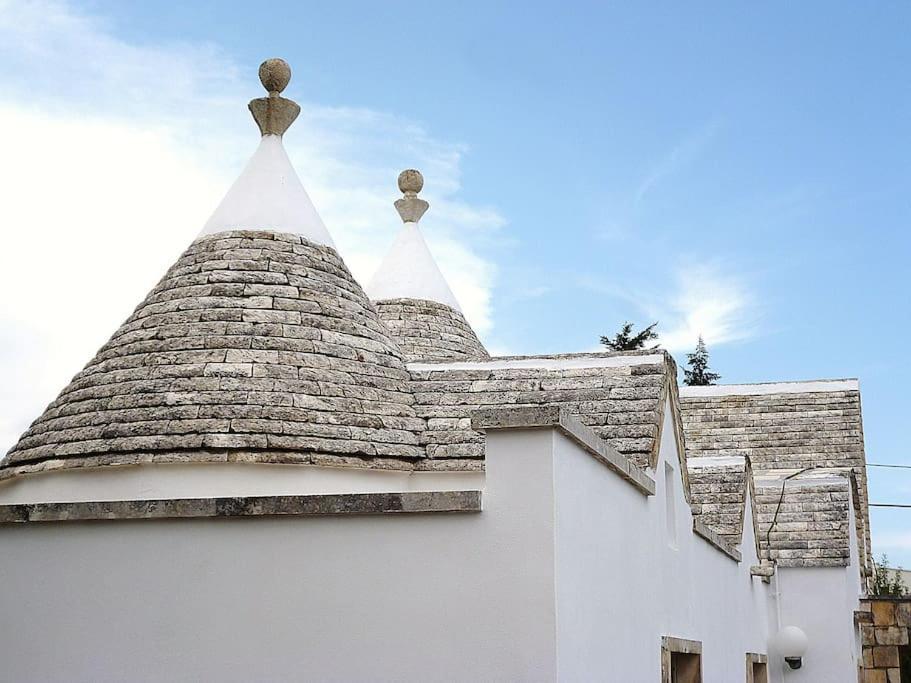
[[[3,677],[552,681],[536,436],[490,460],[481,514],[0,526]]]

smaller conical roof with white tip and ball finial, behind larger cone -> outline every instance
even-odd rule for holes
[[[423,185],[414,169],[399,175],[404,197],[395,208],[404,225],[367,291],[408,361],[489,358],[421,234],[418,221],[430,206],[417,196]]]

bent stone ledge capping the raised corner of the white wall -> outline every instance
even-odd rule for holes
[[[471,428],[479,432],[554,428],[584,448],[595,460],[619,474],[640,493],[655,495],[655,481],[650,476],[559,406],[476,410],[471,413]]]

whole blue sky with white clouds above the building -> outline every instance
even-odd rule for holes
[[[418,166],[492,350],[657,320],[682,360],[701,332],[724,382],[858,377],[868,460],[911,465],[909,29],[907,3],[0,0],[0,135],[25,166],[0,175],[4,232],[19,253],[50,233],[66,257],[43,263],[73,283],[0,309],[0,362],[36,385],[4,390],[0,433],[201,226],[255,144],[256,66],[282,56],[304,106],[289,152],[362,280]],[[34,282],[12,253],[8,292]],[[871,469],[870,497],[911,503],[911,470]],[[875,549],[911,566],[911,511],[872,515]]]

